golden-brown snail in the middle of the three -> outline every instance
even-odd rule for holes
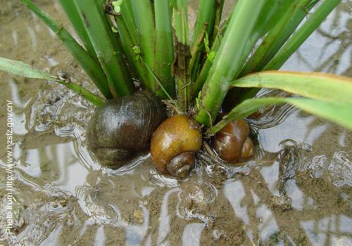
[[[199,124],[187,115],[174,115],[154,132],[151,158],[161,173],[184,178],[194,166],[201,143]]]

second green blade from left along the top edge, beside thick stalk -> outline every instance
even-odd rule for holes
[[[94,51],[93,45],[89,40],[87,30],[83,25],[83,21],[80,18],[80,14],[77,11],[75,3],[73,2],[73,0],[59,0],[59,1],[66,15],[70,19],[71,24],[73,25],[73,27],[75,27],[75,30],[78,36],[80,37],[80,39],[82,40],[84,47],[87,49],[87,51],[92,57],[96,58],[96,53]]]

